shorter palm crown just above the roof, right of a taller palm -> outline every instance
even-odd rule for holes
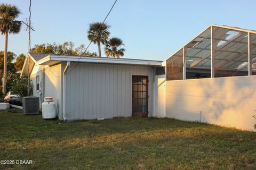
[[[113,58],[124,56],[125,49],[119,48],[120,46],[124,46],[122,39],[116,37],[110,38],[105,46],[105,54]]]

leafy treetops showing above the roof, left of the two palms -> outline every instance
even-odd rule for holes
[[[35,45],[34,48],[31,49],[31,52],[35,53],[52,53],[59,55],[82,55],[82,56],[97,56],[97,53],[90,53],[86,51],[84,53],[85,46],[82,44],[79,47],[75,48],[75,44],[71,41],[64,42],[63,44],[41,44]]]

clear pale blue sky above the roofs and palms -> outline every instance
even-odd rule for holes
[[[29,0],[1,2],[17,5],[22,11],[19,20],[28,18]],[[31,47],[64,41],[73,41],[76,46],[88,45],[89,23],[103,21],[113,3],[114,0],[32,0],[31,22],[35,32],[31,35]],[[110,37],[123,39],[125,58],[165,60],[213,23],[256,30],[255,6],[253,0],[117,0],[107,24],[111,26]],[[10,35],[8,45],[17,55],[27,53],[26,28],[19,35]],[[3,35],[0,48],[4,49]],[[98,53],[94,44],[89,50]]]

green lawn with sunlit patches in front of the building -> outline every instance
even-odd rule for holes
[[[0,169],[256,169],[256,133],[171,118],[61,122],[0,112]]]

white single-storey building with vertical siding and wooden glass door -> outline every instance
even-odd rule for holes
[[[40,105],[54,98],[60,120],[150,117],[156,67],[162,61],[28,53],[21,75]]]

